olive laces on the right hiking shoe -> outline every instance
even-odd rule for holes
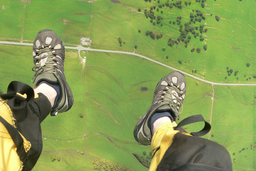
[[[171,107],[171,109],[176,113],[176,114],[180,114],[183,110],[183,105],[182,105],[182,102],[179,100],[179,95],[175,94],[175,93],[172,93],[171,92],[172,87],[168,87],[168,90],[167,91],[164,91],[165,92],[165,95],[162,96],[163,99],[160,100],[162,103],[164,101],[168,101],[169,102],[169,106]],[[172,97],[172,95],[175,97],[175,99]],[[182,97],[181,97],[182,98]],[[179,107],[180,106],[180,107]],[[181,108],[181,111],[179,112],[179,109]]]

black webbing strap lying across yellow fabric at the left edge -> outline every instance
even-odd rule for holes
[[[17,154],[20,157],[20,160],[25,163],[26,160],[26,151],[24,149],[23,146],[23,138],[20,135],[20,133],[18,132],[18,130],[16,128],[14,128],[14,126],[12,126],[11,124],[9,124],[3,117],[0,116],[0,121],[3,123],[3,125],[6,127],[8,133],[10,134],[15,146],[17,147]]]

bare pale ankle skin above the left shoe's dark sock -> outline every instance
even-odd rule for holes
[[[48,98],[48,100],[51,103],[51,106],[53,107],[55,99],[56,99],[56,96],[57,96],[57,92],[54,90],[54,88],[52,88],[51,86],[43,83],[43,84],[40,84],[34,90],[34,92],[35,93],[43,93]]]

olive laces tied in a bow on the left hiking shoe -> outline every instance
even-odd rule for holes
[[[52,51],[51,49],[49,49],[49,50],[43,50],[43,51],[41,51],[41,52],[39,52],[38,54],[37,54],[37,56],[39,56],[39,55],[41,55],[42,53],[45,53],[45,52],[49,52],[49,51]],[[50,58],[52,58],[52,60],[50,60],[50,61],[47,61],[47,62],[45,62],[45,65],[39,65],[39,61],[41,61],[42,59],[44,59],[44,58],[47,58],[47,57],[50,57]],[[47,66],[47,69],[45,68],[45,66],[47,65],[47,64],[53,64],[53,62],[55,62],[53,59],[54,59],[54,54],[50,54],[50,55],[44,55],[44,56],[41,56],[41,57],[38,57],[37,58],[37,62],[36,62],[36,65],[32,68],[32,71],[35,71],[36,73],[34,74],[34,76],[33,76],[33,78],[32,78],[32,83],[34,83],[35,82],[35,80],[36,80],[36,78],[37,78],[37,76],[39,76],[40,74],[42,74],[42,73],[44,73],[44,72],[49,72],[49,73],[52,73],[52,74],[54,74],[55,73],[55,71],[56,70],[58,70],[58,68],[56,68],[56,67],[53,67],[53,66]]]

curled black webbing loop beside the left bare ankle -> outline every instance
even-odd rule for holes
[[[16,93],[26,94],[26,101],[29,106],[32,104],[35,97],[35,93],[32,87],[19,81],[12,81],[7,88],[7,93],[13,95],[16,95]]]

